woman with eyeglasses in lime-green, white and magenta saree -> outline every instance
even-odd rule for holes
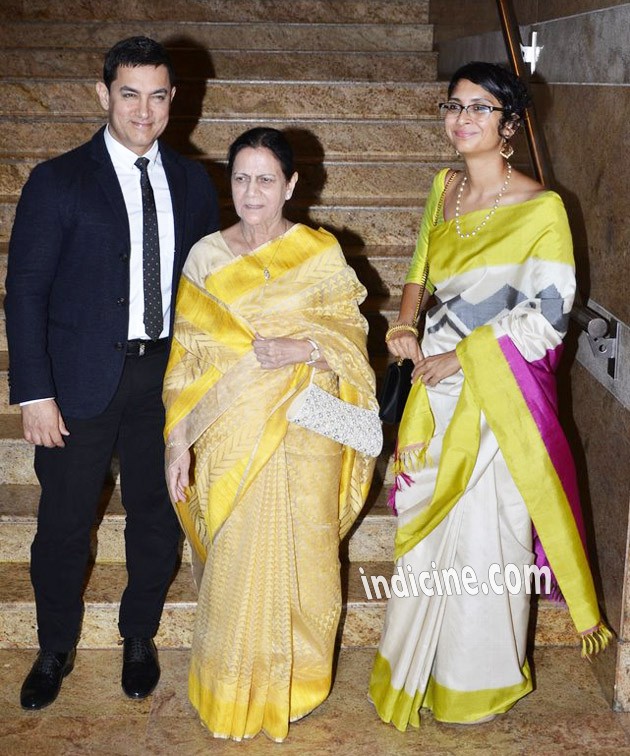
[[[370,699],[399,730],[419,726],[421,708],[442,722],[486,722],[532,690],[532,590],[564,597],[584,654],[610,638],[555,406],[575,292],[571,235],[560,197],[508,162],[528,102],[499,66],[453,76],[439,109],[464,168],[435,177],[386,337],[414,369],[391,493],[398,578]],[[427,260],[423,304],[433,300],[418,343]]]

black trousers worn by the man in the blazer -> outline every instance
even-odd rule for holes
[[[82,589],[94,524],[112,454],[118,451],[128,582],[122,596],[123,637],[152,638],[178,559],[180,528],[164,477],[162,379],[166,348],[128,355],[103,414],[64,418],[65,448],[35,450],[42,493],[31,547],[40,648],[69,651],[78,641]]]

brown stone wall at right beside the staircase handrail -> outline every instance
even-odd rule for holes
[[[622,323],[630,323],[630,3],[515,0],[524,40],[545,45],[530,82],[555,176],[574,235],[578,286]],[[470,59],[507,60],[496,3],[434,0],[443,77]],[[583,338],[583,337],[582,337]],[[594,557],[595,579],[619,636],[616,653],[596,665],[616,708],[630,710],[630,411],[575,359],[567,339],[560,400],[576,457]],[[621,370],[630,370],[628,347]]]

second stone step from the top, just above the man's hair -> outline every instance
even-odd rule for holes
[[[166,47],[185,45],[202,50],[241,50],[245,54],[251,50],[431,52],[433,48],[433,27],[423,24],[173,20],[108,23],[8,20],[0,25],[0,47],[101,50],[134,35],[152,37]]]

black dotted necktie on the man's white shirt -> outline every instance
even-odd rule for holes
[[[144,289],[144,329],[155,341],[160,338],[164,325],[162,315],[162,288],[160,286],[160,237],[153,187],[149,181],[148,158],[138,158],[142,189],[142,280]]]

